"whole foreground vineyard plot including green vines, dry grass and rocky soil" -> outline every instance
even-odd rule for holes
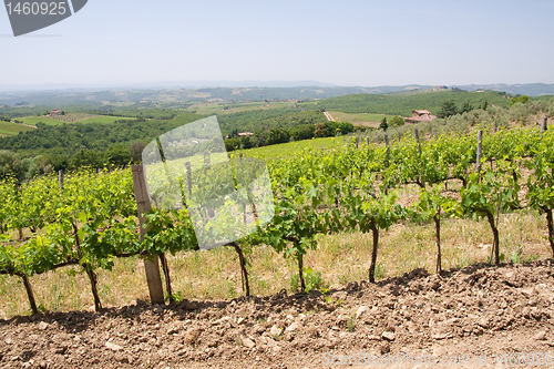
[[[130,171],[74,174],[63,189],[55,177],[0,187],[10,198],[0,365],[367,368],[367,355],[399,352],[448,356],[443,368],[544,365],[554,347],[553,131],[527,121],[531,109],[489,122],[491,111],[453,117],[463,134],[416,132],[390,147],[339,136],[245,151],[268,160],[276,216],[209,252],[193,250],[184,211],[151,212],[140,240]],[[161,252],[173,290],[152,306],[136,255]],[[29,316],[25,294],[40,312]],[[392,367],[417,365],[433,367]]]

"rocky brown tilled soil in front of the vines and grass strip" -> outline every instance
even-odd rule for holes
[[[553,276],[550,259],[417,269],[325,294],[16,317],[0,320],[0,368],[548,368]]]

